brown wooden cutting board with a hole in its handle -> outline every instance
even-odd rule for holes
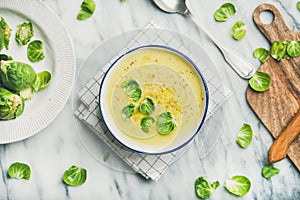
[[[260,14],[264,11],[273,13],[274,19],[271,24],[264,24],[260,20]],[[300,40],[300,32],[294,32],[286,26],[274,5],[258,6],[253,13],[253,19],[270,43]],[[300,109],[300,56],[290,60],[282,59],[279,62],[269,56],[258,70],[268,72],[272,84],[269,90],[262,93],[248,87],[246,98],[272,136],[277,138]],[[300,170],[300,135],[289,147],[288,157]]]

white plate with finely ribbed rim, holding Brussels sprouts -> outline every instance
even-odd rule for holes
[[[42,1],[0,0],[0,17],[10,28],[9,50],[1,53],[14,60],[30,64],[35,71],[50,71],[52,80],[48,88],[36,93],[25,102],[24,113],[13,120],[0,121],[0,144],[15,142],[35,135],[49,125],[67,102],[75,77],[75,55],[69,34],[59,17]],[[31,21],[34,27],[33,40],[44,43],[45,59],[31,63],[26,55],[27,45],[15,41],[17,25]]]

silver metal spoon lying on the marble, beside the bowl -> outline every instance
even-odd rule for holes
[[[192,15],[185,0],[153,0],[161,10],[168,13],[179,13],[193,21],[219,48],[226,62],[244,79],[251,78],[255,73],[255,68],[237,52],[223,47]]]

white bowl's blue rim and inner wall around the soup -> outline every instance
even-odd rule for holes
[[[147,146],[145,145],[141,145],[141,144],[137,144],[136,140],[132,139],[130,136],[126,135],[125,133],[123,133],[118,126],[115,124],[114,120],[112,119],[112,114],[109,111],[109,106],[105,103],[107,101],[105,101],[105,97],[107,95],[107,82],[108,79],[113,75],[113,70],[117,65],[117,63],[119,63],[122,59],[126,58],[127,56],[130,56],[140,50],[143,49],[159,49],[159,50],[164,50],[164,51],[169,51],[171,53],[174,53],[178,56],[180,56],[181,58],[183,58],[184,60],[186,60],[191,66],[193,66],[193,68],[195,69],[195,71],[198,73],[199,77],[200,77],[200,85],[202,85],[203,91],[200,91],[202,93],[205,93],[205,97],[203,98],[203,103],[205,104],[203,106],[203,110],[202,110],[202,118],[200,120],[200,122],[197,125],[197,128],[195,128],[195,131],[192,133],[187,133],[188,137],[186,137],[185,139],[179,140],[176,142],[176,145],[172,145],[169,144],[166,147],[163,148],[155,148],[155,147],[150,147],[147,148]],[[145,45],[145,46],[139,46],[137,48],[131,49],[129,51],[127,51],[126,53],[122,54],[121,56],[119,56],[108,68],[108,70],[106,71],[106,73],[103,76],[103,79],[101,81],[101,85],[100,85],[100,90],[99,90],[99,108],[100,108],[100,115],[102,117],[102,120],[104,122],[104,125],[106,126],[108,132],[123,146],[125,146],[126,148],[134,151],[134,152],[138,152],[138,153],[143,153],[143,154],[166,154],[166,153],[170,153],[176,150],[181,149],[182,147],[184,147],[185,145],[187,145],[200,131],[201,127],[203,126],[203,123],[205,121],[206,118],[206,114],[207,114],[207,110],[208,110],[208,102],[209,102],[209,91],[208,91],[208,87],[206,84],[206,81],[202,75],[202,73],[200,72],[199,68],[196,66],[196,64],[185,54],[181,53],[180,51],[173,49],[169,46],[163,46],[163,45]],[[176,139],[175,139],[176,140]]]

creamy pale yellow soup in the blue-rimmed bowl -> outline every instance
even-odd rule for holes
[[[139,143],[163,148],[197,129],[203,116],[205,91],[199,74],[183,57],[168,50],[147,48],[123,57],[116,65],[109,80],[108,98],[113,120],[123,134]],[[142,93],[138,100],[128,97],[122,85],[128,80],[139,84]],[[152,99],[155,105],[150,114],[155,122],[147,132],[141,128],[141,120],[146,115],[138,109],[146,98]],[[129,104],[135,105],[135,109],[130,118],[125,118],[122,110]],[[157,129],[157,117],[164,112],[172,114],[176,125],[169,134],[160,134]]]

